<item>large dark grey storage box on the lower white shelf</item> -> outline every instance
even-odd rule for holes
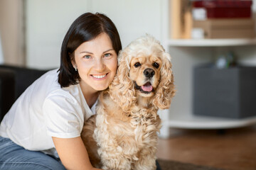
[[[255,116],[256,67],[195,67],[193,113],[221,118]]]

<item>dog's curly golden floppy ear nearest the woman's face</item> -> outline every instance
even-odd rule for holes
[[[129,79],[129,56],[127,52],[119,53],[117,74],[110,84],[110,97],[119,104],[124,111],[129,111],[136,101],[134,83]]]

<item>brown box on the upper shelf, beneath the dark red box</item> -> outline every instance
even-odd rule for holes
[[[193,21],[193,28],[201,28],[204,38],[255,38],[253,19],[208,19]]]

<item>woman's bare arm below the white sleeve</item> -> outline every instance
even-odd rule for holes
[[[69,139],[53,137],[53,143],[66,169],[96,170],[90,164],[87,150],[81,137]]]

